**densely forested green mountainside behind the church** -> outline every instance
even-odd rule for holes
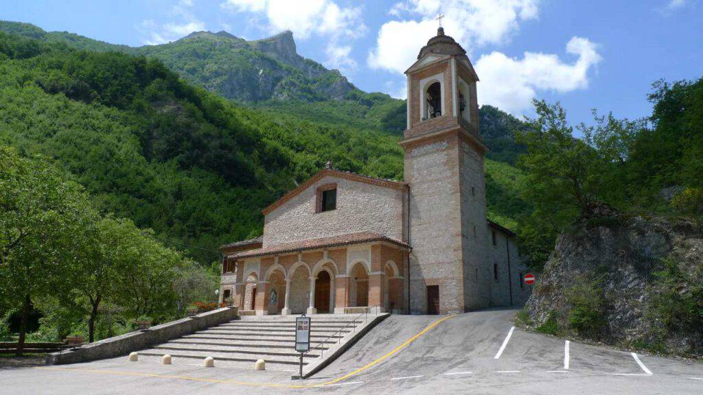
[[[349,100],[247,109],[191,86],[158,60],[105,52],[127,47],[27,24],[0,27],[21,34],[1,36],[0,141],[53,158],[101,212],[153,228],[202,263],[218,259],[218,245],[259,234],[259,210],[327,160],[402,178],[396,143],[404,101],[352,89]],[[189,39],[202,36],[210,34]],[[511,140],[514,131],[503,130],[496,136]],[[489,215],[514,227],[520,173],[486,166]]]

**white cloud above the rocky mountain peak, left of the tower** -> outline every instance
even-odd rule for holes
[[[341,7],[333,0],[226,0],[221,8],[265,15],[263,28],[269,34],[290,30],[296,39],[308,39],[313,34],[323,36],[328,41],[325,63],[342,72],[356,69],[350,44],[366,32],[359,7]]]

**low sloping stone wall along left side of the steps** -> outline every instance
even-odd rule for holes
[[[235,318],[237,318],[236,307],[207,311],[198,314],[195,318],[182,318],[153,326],[149,330],[129,332],[124,335],[103,339],[99,342],[86,344],[79,349],[48,354],[46,356],[46,364],[63,365],[65,363],[79,363],[127,355],[131,351],[148,349],[155,344],[164,343],[176,337],[226,323]]]

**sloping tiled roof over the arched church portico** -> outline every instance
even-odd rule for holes
[[[346,235],[330,236],[328,238],[318,238],[302,240],[297,242],[284,242],[278,245],[258,248],[256,250],[237,252],[228,256],[230,259],[243,259],[251,257],[262,257],[264,255],[285,254],[290,252],[299,252],[304,250],[316,250],[325,247],[341,247],[344,245],[360,244],[364,242],[383,241],[397,245],[398,247],[410,248],[406,242],[394,240],[380,233],[375,232],[358,232],[347,233]]]

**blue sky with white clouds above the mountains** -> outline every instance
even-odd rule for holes
[[[477,68],[479,102],[515,115],[545,98],[572,122],[591,123],[592,108],[643,117],[652,82],[703,76],[703,0],[0,0],[0,19],[130,46],[289,29],[303,56],[396,97],[437,13]]]

